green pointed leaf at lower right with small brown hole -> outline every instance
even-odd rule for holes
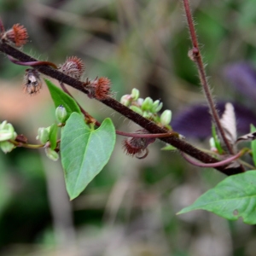
[[[241,217],[246,224],[256,224],[256,171],[226,177],[177,214],[200,209],[230,220]]]

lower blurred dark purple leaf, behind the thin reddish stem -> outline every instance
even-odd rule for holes
[[[219,115],[224,113],[226,102],[217,104]],[[256,125],[256,115],[246,107],[232,103],[236,113],[236,125],[238,134],[250,132],[250,125]],[[191,106],[183,112],[177,114],[172,119],[172,128],[174,131],[181,133],[185,137],[196,137],[204,139],[211,136],[211,116],[209,108],[206,105]]]

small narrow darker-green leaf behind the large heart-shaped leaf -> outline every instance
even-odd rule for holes
[[[55,102],[55,108],[58,108],[60,105],[62,105],[64,108],[66,108],[68,117],[73,112],[81,113],[78,103],[75,102],[71,96],[67,95],[66,92],[61,90],[48,79],[44,79],[44,81],[48,86],[50,96]]]

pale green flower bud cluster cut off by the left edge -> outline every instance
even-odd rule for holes
[[[3,121],[0,124],[0,148],[4,153],[8,153],[15,148],[13,143],[10,143],[9,140],[15,140],[17,133],[13,125]]]

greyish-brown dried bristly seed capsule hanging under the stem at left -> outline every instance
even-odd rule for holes
[[[23,91],[32,95],[36,94],[42,88],[42,81],[38,70],[28,68],[24,76]]]

